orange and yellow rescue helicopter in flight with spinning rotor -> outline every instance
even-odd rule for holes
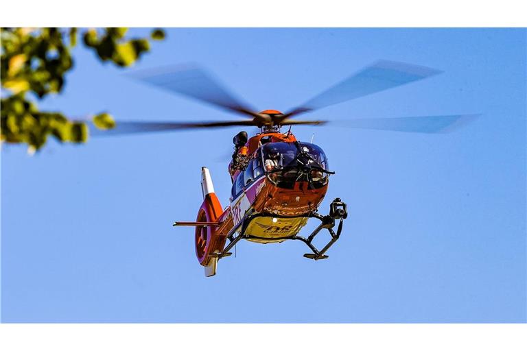
[[[327,250],[340,238],[344,219],[348,216],[347,205],[336,197],[327,215],[318,212],[328,190],[329,176],[334,172],[329,168],[323,149],[299,141],[291,127],[324,125],[327,121],[302,121],[294,117],[438,73],[441,71],[425,66],[380,60],[287,112],[255,112],[199,67],[139,71],[131,77],[248,118],[184,123],[117,121],[114,129],[99,132],[108,135],[232,126],[259,128],[253,136],[242,131],[233,138],[234,152],[228,167],[232,180],[229,205],[222,207],[215,195],[210,171],[202,167],[203,202],[196,221],[176,221],[174,226],[195,228],[196,257],[207,277],[216,274],[218,261],[231,256],[231,250],[242,239],[255,243],[301,241],[311,250],[304,256],[318,261],[328,258]],[[344,125],[347,128],[437,133],[453,130],[476,116],[349,119]],[[281,129],[287,126],[289,129],[283,132]],[[320,223],[309,235],[302,236],[299,233],[309,219]],[[317,248],[313,240],[322,230],[327,230],[331,237],[324,247]]]

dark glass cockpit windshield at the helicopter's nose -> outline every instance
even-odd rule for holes
[[[284,189],[292,189],[295,182],[308,182],[309,189],[327,184],[327,157],[312,143],[268,143],[259,150],[262,165],[269,180]]]

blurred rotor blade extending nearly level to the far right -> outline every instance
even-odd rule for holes
[[[417,116],[398,118],[349,119],[336,121],[339,126],[347,128],[392,130],[414,133],[448,133],[460,128],[480,114],[453,114],[447,116]]]

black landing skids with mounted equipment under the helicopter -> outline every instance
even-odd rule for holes
[[[342,202],[338,197],[331,202],[329,205],[329,215],[318,215],[318,213],[310,213],[307,217],[309,218],[316,218],[320,219],[320,225],[311,233],[309,234],[309,237],[301,237],[298,234],[294,235],[293,237],[284,238],[284,240],[300,240],[303,241],[311,250],[312,254],[304,254],[305,258],[311,258],[312,260],[318,261],[323,260],[325,258],[328,258],[329,256],[325,255],[325,252],[329,250],[329,247],[335,243],[338,238],[340,238],[340,233],[342,232],[342,224],[344,223],[344,219],[348,217],[347,213],[347,206]],[[231,232],[227,235],[227,239],[229,239],[229,245],[224,247],[224,250],[221,253],[215,253],[213,254],[214,257],[214,264],[218,263],[218,260],[220,258],[224,258],[227,256],[231,256],[233,253],[229,252],[234,245],[237,244],[238,241],[242,239],[250,239],[251,236],[246,234],[245,230],[247,228],[248,223],[255,218],[255,217],[268,217],[271,215],[263,215],[263,214],[252,214],[249,213],[244,217],[242,221],[240,221],[237,226],[235,226]],[[277,216],[272,215],[272,217],[285,217],[285,216]],[[338,220],[338,227],[337,231],[335,232],[333,228],[335,227],[335,222]],[[242,230],[239,231],[239,234],[236,234],[239,227],[242,227]],[[316,235],[323,229],[327,229],[329,234],[331,234],[331,240],[329,243],[327,243],[321,250],[318,250],[312,243],[313,239],[316,237]]]

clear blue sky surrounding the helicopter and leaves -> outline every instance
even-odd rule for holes
[[[32,157],[3,145],[2,322],[526,322],[525,29],[169,29],[135,68],[196,62],[256,108],[288,110],[379,59],[445,72],[305,118],[482,116],[451,134],[293,128],[336,171],[320,210],[348,204],[324,261],[245,241],[204,278],[194,231],[172,222],[195,219],[202,166],[228,203],[237,128]],[[123,73],[78,47],[65,92],[40,106],[233,117]]]

